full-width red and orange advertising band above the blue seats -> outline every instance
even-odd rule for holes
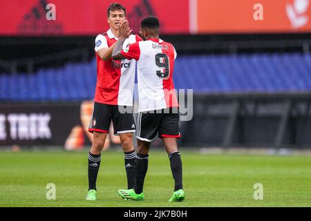
[[[0,35],[97,35],[114,0],[0,1]],[[118,0],[131,28],[156,15],[162,34],[311,32],[311,0]],[[55,21],[46,15],[55,5]]]

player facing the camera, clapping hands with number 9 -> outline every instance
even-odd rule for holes
[[[111,59],[117,42],[118,26],[126,19],[126,9],[119,3],[112,3],[108,10],[110,29],[95,39],[97,59],[97,84],[92,119],[88,131],[93,133],[93,144],[88,153],[88,195],[86,200],[96,200],[96,180],[100,169],[101,153],[104,148],[109,126],[113,122],[115,135],[120,135],[124,151],[128,189],[134,187],[135,149],[133,148],[133,90],[135,84],[135,59],[114,61]],[[123,48],[142,40],[138,35],[124,39]],[[130,109],[121,113],[120,107]]]

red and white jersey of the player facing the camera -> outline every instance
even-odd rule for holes
[[[131,35],[124,41],[123,48],[142,39],[138,35]],[[117,41],[117,37],[109,30],[97,35],[95,51],[109,48]],[[135,84],[135,59],[122,61],[103,61],[96,54],[97,59],[97,84],[94,101],[101,104],[133,106],[133,88]]]

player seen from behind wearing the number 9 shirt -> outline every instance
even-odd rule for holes
[[[178,101],[173,84],[173,68],[176,50],[172,44],[159,37],[159,20],[146,17],[141,22],[139,41],[122,48],[124,39],[131,34],[129,23],[124,21],[119,27],[120,38],[113,49],[113,59],[135,59],[138,75],[138,117],[136,137],[138,149],[135,162],[135,186],[133,189],[119,190],[124,199],[144,200],[142,189],[148,169],[148,152],[151,141],[158,135],[169,155],[171,172],[175,181],[170,202],[185,199],[182,188],[182,160],[177,147],[179,132]]]

